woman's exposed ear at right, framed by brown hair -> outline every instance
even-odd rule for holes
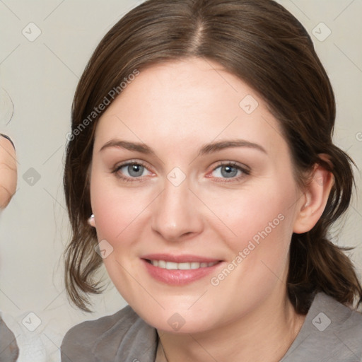
[[[327,161],[327,155],[320,155]],[[322,216],[328,201],[329,192],[334,184],[334,177],[321,165],[315,164],[312,179],[305,189],[298,206],[298,214],[293,225],[293,233],[301,234],[311,230]]]

